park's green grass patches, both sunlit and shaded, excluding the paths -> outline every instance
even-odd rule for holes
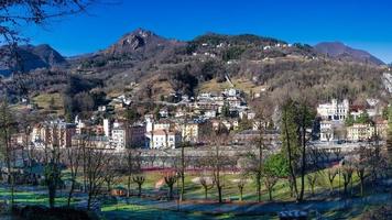
[[[150,196],[165,196],[167,193],[167,187],[163,184],[162,187],[156,188],[156,183],[162,182],[162,178],[164,176],[164,173],[161,172],[145,172],[144,174],[145,177],[145,183],[143,185],[143,195],[150,195]],[[63,179],[66,179],[68,177],[68,173],[64,172]],[[199,177],[199,175],[195,173],[187,173],[185,183],[186,183],[186,194],[185,194],[185,199],[190,199],[190,200],[199,200],[203,201],[204,199],[204,189],[202,186],[195,182],[195,178]],[[226,174],[222,175],[222,180],[224,180],[224,198],[226,201],[230,200],[232,202],[239,202],[236,201],[239,199],[239,190],[238,186],[236,183],[236,179],[239,179],[240,175],[239,174]],[[249,183],[244,187],[243,191],[243,197],[244,201],[243,202],[253,202],[257,200],[257,194],[255,194],[255,185],[252,182],[251,177],[249,178]],[[81,178],[78,179],[78,182],[81,183]],[[358,177],[353,175],[353,195],[359,194],[358,190]],[[126,187],[127,186],[127,178],[119,178],[116,179],[115,186],[121,186]],[[335,190],[342,190],[342,178],[340,179],[340,187],[339,187],[339,178],[338,176],[335,179],[334,183]],[[132,189],[135,193],[137,185],[132,183]],[[175,184],[174,187],[174,193],[177,193],[177,184]],[[42,188],[45,189],[45,188]],[[311,198],[311,191],[309,187],[306,184],[305,187],[305,196],[307,197],[306,199],[312,199]],[[368,187],[366,188],[367,194],[371,194],[371,188]],[[268,191],[265,187],[262,187],[262,200],[265,202],[268,200]],[[29,204],[29,205],[48,205],[47,196],[44,190],[40,190],[41,193],[36,191],[17,191],[15,193],[15,201],[17,202],[22,202],[22,204]],[[64,206],[66,205],[66,190],[58,191],[57,193],[57,199],[56,199],[56,205],[57,206]],[[327,180],[327,176],[319,174],[319,180],[316,186],[316,197],[318,198],[319,195],[325,195],[328,197],[329,193],[329,183]],[[9,196],[10,193],[0,188],[0,196]],[[317,196],[318,195],[318,196]],[[273,193],[274,200],[276,201],[294,201],[294,199],[290,196],[290,190],[288,190],[288,185],[286,179],[280,179],[279,183],[276,184]],[[151,201],[154,201],[155,199],[150,198]],[[208,199],[209,200],[215,200],[217,199],[217,190],[215,188],[209,190],[208,194]],[[77,202],[79,199],[73,200],[73,204]],[[0,200],[1,201],[1,200]],[[339,211],[328,211],[324,212],[323,216],[326,217],[327,219],[358,219],[363,212],[369,211],[374,209],[374,206],[369,206],[369,207],[362,207],[362,208],[353,208],[350,210],[339,210]],[[144,205],[135,205],[135,204],[126,204],[123,200],[119,200],[117,204],[105,204],[101,207],[102,216],[105,219],[251,219],[251,218],[258,218],[258,219],[276,219],[276,216],[235,216],[232,213],[224,213],[224,215],[218,215],[218,216],[207,216],[203,215],[200,212],[177,212],[173,210],[165,210],[165,209],[159,209],[156,207],[153,207],[149,202]],[[167,218],[166,218],[167,217]]]

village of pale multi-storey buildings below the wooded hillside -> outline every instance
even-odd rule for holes
[[[235,133],[236,144],[246,144],[250,134],[258,134],[260,119],[258,109],[249,107],[243,95],[236,88],[197,97],[172,94],[176,102],[157,101],[161,108],[155,112],[132,121],[116,113],[127,112],[133,105],[132,98],[120,95],[109,105],[99,106],[90,119],[76,116],[72,122],[62,118],[40,122],[32,128],[29,140],[37,148],[54,143],[69,147],[88,138],[98,148],[116,152],[128,147],[174,150],[184,142],[194,146],[206,144],[211,131],[225,129]],[[378,99],[367,99],[363,106],[351,105],[347,99],[319,103],[313,140],[331,144],[366,142],[374,136],[385,140],[385,108]],[[271,121],[269,127],[276,136],[277,124],[279,121]],[[24,135],[18,134],[15,139],[22,142]]]

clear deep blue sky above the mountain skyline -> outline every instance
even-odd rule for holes
[[[96,52],[143,28],[190,40],[206,32],[252,33],[290,43],[340,41],[392,62],[389,0],[101,0],[79,14],[23,26],[33,44],[70,56]],[[113,2],[115,3],[107,3]]]

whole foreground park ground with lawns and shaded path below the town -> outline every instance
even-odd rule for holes
[[[170,199],[170,188],[165,184],[166,169],[150,169],[143,172],[144,183],[139,196],[138,185],[132,183],[131,195],[123,193],[127,188],[124,177],[115,179],[111,186],[105,187],[94,202],[91,210],[99,219],[279,219],[282,211],[306,211],[308,219],[362,219],[362,216],[382,206],[390,205],[392,197],[380,187],[366,185],[363,195],[360,195],[360,182],[357,175],[352,175],[352,183],[344,193],[344,177],[337,174],[330,188],[328,169],[317,172],[314,190],[312,184],[306,183],[305,201],[295,202],[291,197],[287,179],[279,179],[269,200],[266,188],[262,187],[262,201],[257,202],[255,184],[251,176],[243,178],[241,174],[224,172],[222,196],[224,202],[218,202],[216,187],[208,186],[206,191],[200,184],[200,176],[208,176],[208,172],[200,175],[199,172],[188,170],[185,176],[184,200],[178,201],[178,180],[173,185],[173,199]],[[207,174],[207,175],[206,175]],[[68,170],[63,172],[63,179],[68,178]],[[315,174],[308,174],[315,175]],[[207,182],[208,178],[206,177]],[[81,182],[81,176],[78,182]],[[309,179],[306,178],[306,182]],[[242,200],[239,183],[243,184]],[[210,183],[213,184],[213,183]],[[109,189],[110,188],[110,191]],[[7,186],[0,188],[0,202],[10,199],[10,189]],[[56,207],[66,207],[68,190],[57,190]],[[86,207],[87,195],[83,190],[76,190],[72,207]],[[14,194],[14,202],[18,206],[48,206],[47,188],[45,186],[18,186]],[[3,216],[4,219],[6,216]],[[1,219],[1,218],[0,218]]]

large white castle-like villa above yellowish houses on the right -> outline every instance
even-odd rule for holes
[[[330,103],[318,105],[317,113],[323,120],[330,121],[345,121],[349,113],[349,102],[345,99],[342,102],[338,102],[337,99],[333,99]]]

